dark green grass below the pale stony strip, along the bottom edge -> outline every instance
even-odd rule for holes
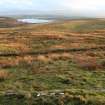
[[[66,90],[65,95],[48,95],[36,97],[22,94],[1,95],[0,102],[5,105],[104,105],[105,96],[98,92]]]

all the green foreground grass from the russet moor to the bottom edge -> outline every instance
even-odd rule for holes
[[[11,58],[12,59],[12,58]],[[79,68],[71,60],[52,62],[33,61],[31,65],[20,62],[19,65],[6,68],[11,77],[0,82],[0,91],[12,90],[18,95],[2,96],[0,103],[7,105],[98,105],[105,103],[105,71],[88,71]],[[34,92],[67,91],[67,96],[34,97]],[[73,90],[73,91],[72,91]],[[23,94],[23,98],[21,97]],[[31,99],[27,95],[31,94]],[[56,93],[57,94],[57,93]],[[59,94],[59,92],[58,92]],[[62,98],[63,97],[63,98]],[[67,98],[68,97],[68,98]],[[11,99],[11,101],[10,101]],[[18,102],[16,102],[18,101]]]

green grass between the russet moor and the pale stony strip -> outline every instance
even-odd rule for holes
[[[34,61],[33,65],[21,62],[20,65],[7,68],[12,74],[8,80],[4,80],[5,90],[11,89],[36,91],[54,89],[104,89],[105,72],[88,71],[78,68],[71,61],[57,60],[51,63]],[[100,70],[102,71],[102,70]],[[40,84],[39,86],[37,86]]]

